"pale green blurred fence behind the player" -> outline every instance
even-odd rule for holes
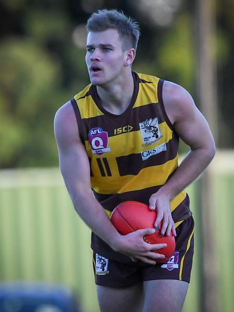
[[[219,312],[234,311],[234,170],[232,164],[230,166],[225,163],[226,169],[220,169],[217,161],[214,161],[209,169],[212,172],[211,187],[216,222],[214,227],[217,228],[214,237],[217,242],[217,266],[213,269],[218,276]],[[196,246],[192,280],[183,312],[202,311],[198,184],[199,182],[195,182],[188,188],[196,223]],[[84,311],[99,311],[93,277],[90,230],[76,214],[57,168],[2,170],[0,225],[1,280],[44,280],[66,284],[76,291]]]

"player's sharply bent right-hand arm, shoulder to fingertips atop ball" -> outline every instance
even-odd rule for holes
[[[215,144],[206,119],[191,95],[181,86],[165,81],[163,102],[167,115],[179,137],[190,151],[175,174],[150,197],[150,209],[157,209],[155,226],[163,220],[161,233],[168,235],[175,226],[169,211],[171,200],[192,183],[208,166],[215,154]]]

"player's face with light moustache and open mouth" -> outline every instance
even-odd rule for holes
[[[85,61],[93,85],[106,85],[117,81],[124,68],[126,52],[116,29],[89,32]]]

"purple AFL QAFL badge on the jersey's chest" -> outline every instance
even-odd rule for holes
[[[110,152],[110,147],[108,147],[108,133],[103,131],[102,128],[96,127],[90,129],[88,138],[93,154],[101,156],[104,153]]]

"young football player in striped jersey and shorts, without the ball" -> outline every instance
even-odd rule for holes
[[[132,72],[139,28],[116,10],[87,23],[85,61],[91,84],[55,116],[59,163],[79,216],[92,230],[101,312],[181,311],[193,258],[193,218],[186,188],[215,153],[208,124],[181,86]],[[190,152],[178,167],[179,137]],[[93,193],[92,193],[93,192]],[[94,196],[93,196],[94,194]],[[120,235],[110,222],[120,202],[157,210],[155,227],[172,231],[176,252],[155,264],[143,236]]]

